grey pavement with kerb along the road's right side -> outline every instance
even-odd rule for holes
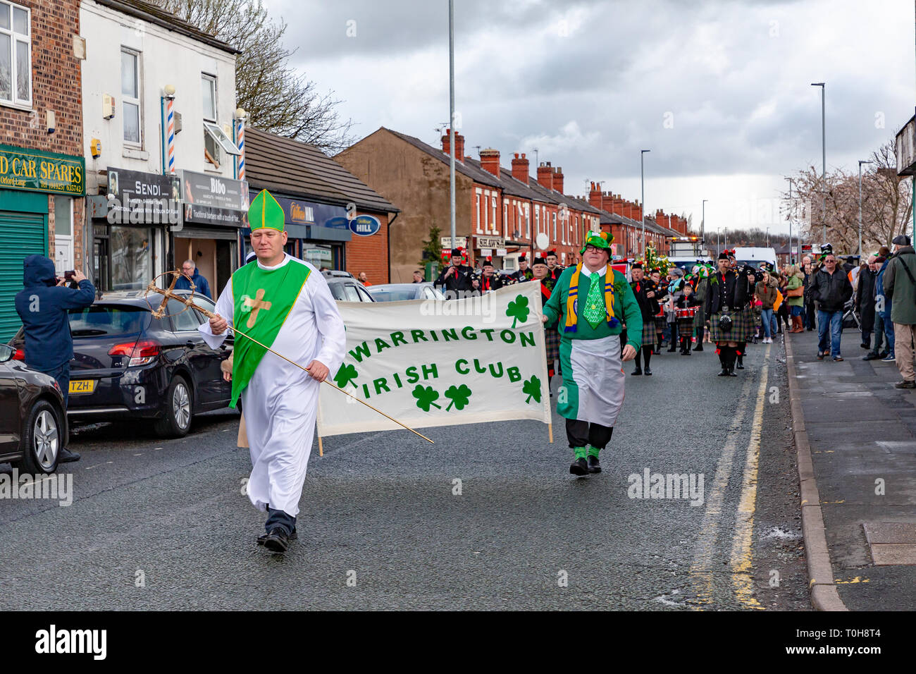
[[[816,331],[787,336],[802,529],[821,610],[916,609],[916,390],[893,362],[817,359]]]

